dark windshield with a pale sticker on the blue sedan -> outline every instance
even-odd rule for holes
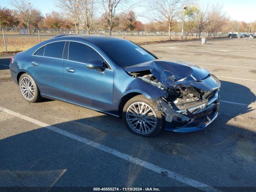
[[[121,67],[128,67],[156,59],[152,54],[127,40],[99,42],[97,44]]]

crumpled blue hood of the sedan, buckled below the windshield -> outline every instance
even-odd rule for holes
[[[208,70],[178,60],[157,59],[126,67],[124,70],[126,72],[150,70],[154,77],[167,87],[176,84],[176,82],[186,80],[186,78],[188,78],[188,81],[200,81],[209,76]]]

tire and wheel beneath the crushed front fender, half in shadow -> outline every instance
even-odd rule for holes
[[[122,114],[128,130],[143,137],[156,136],[164,125],[164,117],[156,104],[142,95],[128,100]]]

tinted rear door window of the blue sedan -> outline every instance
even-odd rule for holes
[[[65,45],[64,41],[55,42],[55,43],[46,45],[44,50],[44,56],[62,58],[64,45]]]

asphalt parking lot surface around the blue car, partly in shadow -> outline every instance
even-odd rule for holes
[[[29,104],[0,58],[0,187],[255,191],[256,40],[143,47],[202,66],[220,79],[220,113],[210,126],[142,138],[121,119],[100,112],[52,100]]]

